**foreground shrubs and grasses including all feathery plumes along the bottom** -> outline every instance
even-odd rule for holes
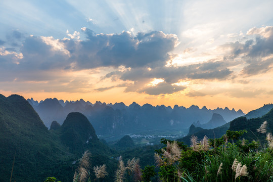
[[[257,129],[267,143],[239,140],[246,130],[226,131],[220,139],[206,136],[198,140],[192,135],[191,146],[162,139],[165,147],[156,150],[156,167],[140,169],[139,159],[124,164],[119,158],[115,181],[273,181],[273,137],[266,132],[267,122]],[[236,142],[235,142],[236,141]],[[73,182],[92,181],[88,174],[86,156],[79,160]],[[95,181],[104,181],[106,166],[94,167]],[[157,171],[157,172],[156,172]],[[50,181],[50,180],[48,180]],[[47,181],[47,182],[48,182]]]

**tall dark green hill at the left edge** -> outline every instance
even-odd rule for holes
[[[64,159],[65,148],[22,96],[0,95],[0,125],[2,181],[10,179],[15,152],[12,181],[43,181],[55,174],[52,169]]]

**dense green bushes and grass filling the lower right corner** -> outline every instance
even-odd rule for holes
[[[161,181],[271,181],[273,150],[260,148],[256,141],[240,140],[244,133],[246,130],[226,131],[220,139],[210,140],[209,151],[201,150],[202,144],[198,151],[191,147],[181,150],[179,160],[172,164],[163,155],[168,146],[163,148],[161,156],[165,162],[158,173]]]

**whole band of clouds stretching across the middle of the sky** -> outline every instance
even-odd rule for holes
[[[204,58],[199,55],[201,60],[198,63],[187,65],[171,63],[173,59],[180,58],[176,53],[172,53],[179,41],[176,35],[161,31],[96,34],[83,27],[81,32],[74,31],[70,34],[67,31],[68,38],[63,39],[52,36],[25,37],[20,32],[12,32],[10,35],[13,39],[21,40],[21,45],[19,50],[0,47],[1,80],[35,81],[40,85],[47,85],[48,92],[53,92],[51,90],[54,89],[60,92],[65,89],[104,92],[116,87],[125,87],[124,92],[165,95],[180,92],[188,87],[187,84],[178,86],[176,83],[180,80],[197,80],[205,84],[206,81],[236,81],[239,77],[237,80],[241,80],[241,84],[250,83],[242,78],[268,72],[273,65],[273,33],[270,27],[250,29],[247,33],[250,38],[247,40],[219,45],[214,52],[202,53]],[[255,39],[252,35],[256,36]],[[184,54],[186,53],[189,57],[199,54],[194,47],[184,50]],[[58,73],[82,70],[97,70],[97,73],[88,73],[87,77],[79,74],[80,76],[74,76],[73,79],[70,79],[69,75],[58,76]],[[98,76],[96,81],[99,82],[112,81],[113,86],[105,87],[103,85],[106,84],[100,84],[89,88],[88,85],[91,84],[88,77],[93,75]],[[62,87],[53,81],[55,78],[57,82],[63,82]],[[84,81],[81,82],[81,78]],[[151,85],[153,79],[162,79],[163,82]],[[239,81],[237,83],[239,84]],[[72,88],[77,84],[83,89]],[[190,90],[187,94],[190,97],[208,95],[204,90],[193,87],[187,90]],[[230,92],[230,95],[236,93]]]

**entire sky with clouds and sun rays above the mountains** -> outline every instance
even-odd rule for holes
[[[273,1],[0,1],[0,94],[247,113],[273,102]]]

